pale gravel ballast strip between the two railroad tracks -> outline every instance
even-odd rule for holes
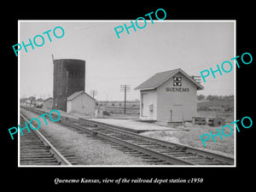
[[[21,108],[20,111],[28,119],[38,118],[38,114]],[[102,143],[87,134],[69,130],[65,126],[47,119],[48,125],[44,124],[43,118],[40,119],[41,126],[38,131],[42,131],[52,137],[55,145],[67,148],[67,152],[72,152],[79,159],[79,165],[84,166],[140,166],[147,165],[139,157],[133,157],[122,151],[112,148],[108,143]],[[33,121],[34,122],[34,121]],[[29,134],[29,133],[25,133]],[[20,136],[22,137],[22,136]]]

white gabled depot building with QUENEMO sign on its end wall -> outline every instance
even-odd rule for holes
[[[135,88],[140,90],[140,119],[167,122],[192,120],[197,112],[197,90],[203,86],[182,69],[156,73]]]

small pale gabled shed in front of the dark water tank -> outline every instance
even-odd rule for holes
[[[94,114],[96,100],[84,90],[67,97],[67,113]]]

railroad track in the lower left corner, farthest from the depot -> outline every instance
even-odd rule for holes
[[[29,121],[20,114],[20,126]],[[38,130],[30,130],[20,135],[20,166],[72,166],[59,150]]]

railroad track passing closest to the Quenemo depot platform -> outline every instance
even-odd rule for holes
[[[32,112],[41,110],[28,108]],[[77,131],[89,133],[92,137],[116,144],[116,148],[133,153],[154,165],[234,165],[234,159],[198,148],[168,143],[125,131],[118,126],[106,125],[89,119],[61,117],[59,122]]]

